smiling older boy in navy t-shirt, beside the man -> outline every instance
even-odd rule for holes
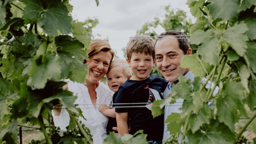
[[[154,40],[148,36],[135,36],[126,46],[126,61],[133,76],[119,86],[116,104],[117,129],[121,135],[128,134],[127,119],[131,122],[130,134],[143,130],[148,143],[161,143],[163,136],[163,115],[153,118],[151,105],[154,100],[163,99],[161,92],[167,81],[158,75],[149,76],[155,66]],[[119,103],[126,103],[121,104]],[[127,105],[127,103],[134,103]],[[126,106],[126,107],[123,107]]]

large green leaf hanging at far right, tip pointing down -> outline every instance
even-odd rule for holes
[[[235,91],[234,91],[235,88]],[[235,131],[235,123],[239,117],[246,116],[243,103],[245,88],[239,82],[226,81],[223,89],[216,98],[217,116],[220,122],[224,122],[230,130]],[[238,113],[238,111],[240,113]]]

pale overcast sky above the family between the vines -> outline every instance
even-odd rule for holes
[[[121,49],[126,46],[129,38],[146,22],[154,21],[155,17],[164,15],[164,7],[170,5],[173,9],[182,9],[192,17],[186,5],[187,0],[71,0],[74,19],[84,21],[87,18],[97,18],[99,24],[93,28],[93,35],[100,34],[98,39],[109,38],[110,46],[119,58],[124,59]],[[157,33],[164,32],[162,27]]]

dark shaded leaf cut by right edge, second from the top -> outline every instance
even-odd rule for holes
[[[245,33],[248,36],[249,39],[255,40],[256,39],[256,16],[255,15],[248,15],[243,16],[241,21],[244,21],[249,30],[247,30]]]

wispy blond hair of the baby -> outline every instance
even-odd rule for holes
[[[109,65],[109,70],[108,72],[113,68],[119,66],[120,67],[120,71],[122,71],[123,75],[125,77],[129,77],[130,75],[132,75],[132,70],[129,67],[128,63],[125,60],[122,59],[114,59],[111,64]],[[107,74],[108,74],[107,72]]]

